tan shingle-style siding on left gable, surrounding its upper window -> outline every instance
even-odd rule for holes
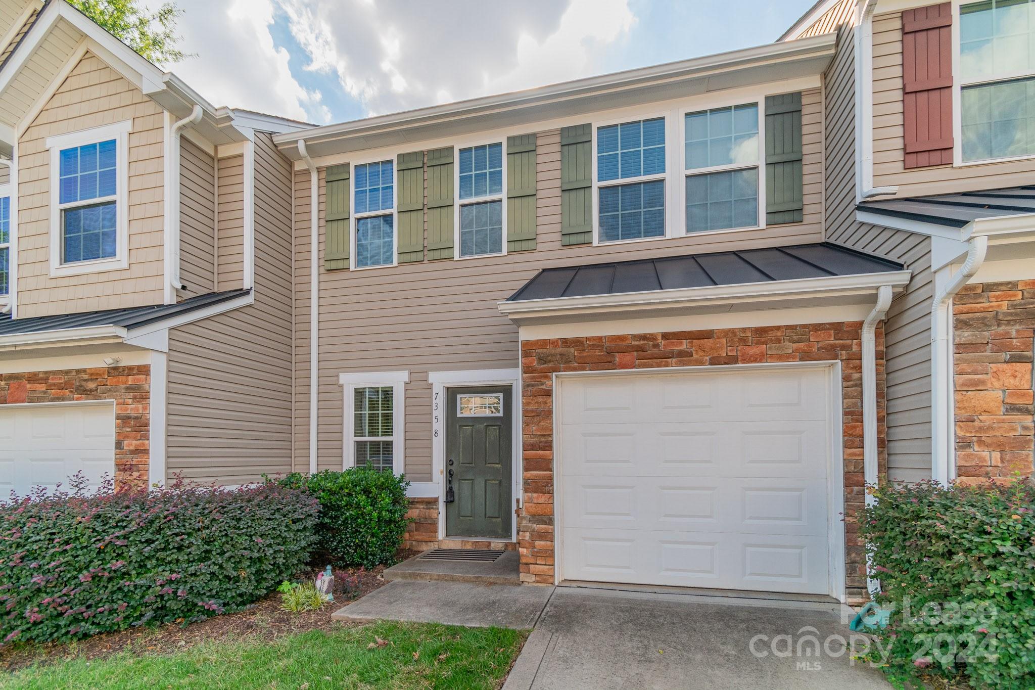
[[[129,132],[129,266],[50,277],[50,151],[46,139],[132,120]],[[91,53],[19,140],[19,317],[161,304],[165,295],[165,113]]]

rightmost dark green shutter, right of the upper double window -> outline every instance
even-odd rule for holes
[[[801,93],[766,96],[766,224],[801,222]]]

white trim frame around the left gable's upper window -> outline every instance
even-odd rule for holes
[[[129,266],[129,132],[132,130],[132,120],[123,120],[102,127],[72,131],[66,134],[48,137],[46,147],[50,149],[50,244],[51,244],[51,277],[65,275],[81,275],[83,273],[98,273],[128,268]],[[62,149],[69,149],[87,144],[97,144],[110,139],[115,140],[115,196],[91,199],[87,202],[60,204],[59,191],[61,180],[60,157]],[[80,261],[70,264],[61,262],[61,210],[89,204],[99,204],[115,201],[116,229],[115,256],[107,259]]]

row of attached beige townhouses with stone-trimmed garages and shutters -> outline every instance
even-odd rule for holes
[[[365,464],[526,582],[857,600],[866,482],[1031,474],[1033,3],[321,127],[2,4],[4,486]]]

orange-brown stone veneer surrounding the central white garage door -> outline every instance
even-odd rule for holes
[[[519,520],[523,582],[554,582],[553,374],[762,362],[841,363],[846,586],[865,596],[866,559],[855,514],[865,501],[860,322],[635,333],[522,342],[524,510]],[[884,335],[877,332],[880,472],[886,471]]]

